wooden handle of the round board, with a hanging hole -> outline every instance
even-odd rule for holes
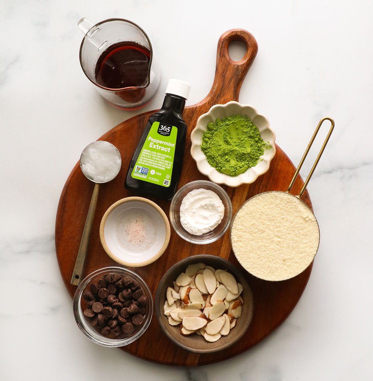
[[[241,41],[246,45],[247,51],[241,61],[236,62],[229,57],[228,46],[233,41]],[[201,103],[207,102],[211,107],[217,103],[238,101],[242,82],[256,53],[258,43],[247,30],[231,29],[223,33],[218,41],[214,83],[210,93]]]

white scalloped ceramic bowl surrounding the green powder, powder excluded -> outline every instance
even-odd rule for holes
[[[259,160],[255,167],[251,167],[246,172],[234,177],[220,173],[213,168],[208,163],[205,154],[201,150],[202,135],[203,132],[206,131],[208,123],[215,122],[218,118],[221,119],[232,115],[244,115],[249,117],[258,127],[262,139],[265,142],[268,142],[271,146],[270,148],[264,149],[264,154],[260,157],[261,160]],[[276,135],[269,127],[268,119],[264,115],[259,114],[254,107],[248,104],[240,104],[235,101],[226,104],[216,104],[197,120],[197,125],[191,133],[191,155],[197,163],[197,168],[200,173],[207,176],[211,181],[216,184],[226,184],[230,187],[238,187],[241,184],[251,184],[261,174],[268,171],[269,163],[276,153],[275,138]]]

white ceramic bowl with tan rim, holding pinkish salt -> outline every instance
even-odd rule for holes
[[[170,223],[156,203],[143,197],[126,197],[105,212],[100,239],[115,262],[130,267],[146,266],[166,250]]]

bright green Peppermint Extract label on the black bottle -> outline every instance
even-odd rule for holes
[[[175,126],[154,122],[136,160],[132,178],[169,187],[177,134]]]

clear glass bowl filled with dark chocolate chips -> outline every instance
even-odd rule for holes
[[[73,307],[80,330],[106,347],[121,347],[138,339],[153,315],[152,295],[144,280],[115,266],[96,270],[83,279]]]

